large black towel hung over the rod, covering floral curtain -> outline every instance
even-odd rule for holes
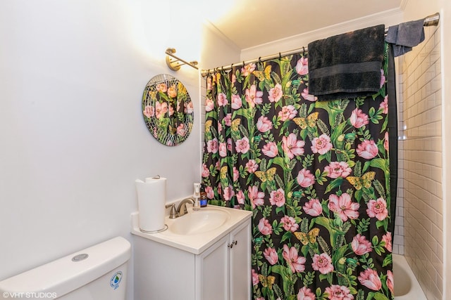
[[[309,93],[318,100],[357,98],[381,89],[385,26],[309,44]]]

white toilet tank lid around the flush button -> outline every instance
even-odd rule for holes
[[[79,261],[72,260],[80,254],[88,256]],[[130,242],[123,237],[114,237],[3,280],[0,292],[49,292],[63,296],[121,266],[130,255]]]

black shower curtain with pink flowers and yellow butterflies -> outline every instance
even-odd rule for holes
[[[386,58],[368,98],[317,101],[307,53],[207,77],[203,188],[254,213],[252,299],[393,299]]]

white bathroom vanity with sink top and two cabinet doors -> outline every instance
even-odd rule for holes
[[[142,233],[132,214],[135,300],[251,299],[251,217],[209,205]]]

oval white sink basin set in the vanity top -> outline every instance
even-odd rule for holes
[[[177,235],[206,233],[222,226],[230,219],[230,213],[212,207],[189,211],[184,216],[168,220],[168,231]]]

